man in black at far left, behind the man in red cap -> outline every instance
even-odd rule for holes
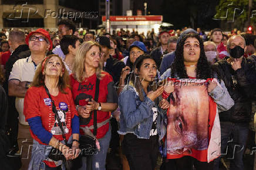
[[[31,55],[31,51],[29,51],[28,45],[25,43],[25,34],[22,31],[15,30],[9,33],[9,46],[11,48],[12,54],[9,57],[8,61],[5,65],[5,82],[3,87],[5,89],[5,93],[8,94],[8,79],[9,75],[12,71],[12,66],[14,63],[21,59],[26,58]],[[15,97],[8,96],[8,117],[6,123],[6,131],[9,137],[11,150],[9,151],[10,155],[14,155],[16,151],[19,150],[17,137],[18,137],[18,117],[19,113],[15,108]]]

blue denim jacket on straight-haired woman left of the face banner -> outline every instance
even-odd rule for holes
[[[143,91],[143,90],[142,90]],[[139,98],[139,93],[132,85],[126,85],[119,96],[120,107],[120,129],[119,134],[133,133],[138,138],[150,138],[150,130],[153,124],[153,107],[156,107],[159,115],[157,116],[157,134],[161,140],[166,134],[166,110],[161,109],[158,103],[154,103],[147,98],[144,93],[144,101]]]

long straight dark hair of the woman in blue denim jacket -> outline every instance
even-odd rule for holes
[[[139,93],[139,98],[141,101],[144,101],[144,96],[143,96],[143,92],[142,92],[143,87],[142,87],[142,83],[140,82],[140,77],[139,77],[139,75],[137,75],[135,73],[135,70],[136,70],[136,68],[137,68],[137,70],[140,70],[140,67],[142,67],[143,61],[146,59],[154,60],[154,58],[151,57],[149,54],[140,55],[133,64],[133,73],[130,75],[130,82],[129,82],[129,84],[134,86],[136,91]],[[154,60],[154,62],[156,63],[155,60]],[[157,75],[156,75],[156,77],[157,77]],[[156,82],[157,81],[150,82],[150,85],[149,85],[150,91],[156,90]]]

